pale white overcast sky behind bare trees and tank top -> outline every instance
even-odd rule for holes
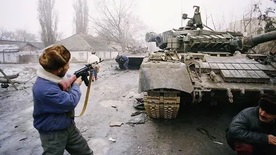
[[[73,34],[72,17],[74,0],[56,0],[55,7],[59,14],[59,32],[64,37]],[[93,0],[88,0],[90,13],[95,10]],[[252,0],[136,0],[134,12],[154,32],[163,32],[181,27],[181,12],[193,17],[193,6],[199,6],[205,23],[206,13],[212,14],[216,23],[225,20],[227,23],[242,19],[242,14]],[[182,3],[182,7],[181,7]],[[262,0],[263,7],[275,6],[270,0]],[[210,18],[209,18],[210,19]],[[211,21],[208,25],[213,27]],[[37,19],[37,0],[0,0],[0,28],[15,30],[28,28],[34,34],[39,32]]]

